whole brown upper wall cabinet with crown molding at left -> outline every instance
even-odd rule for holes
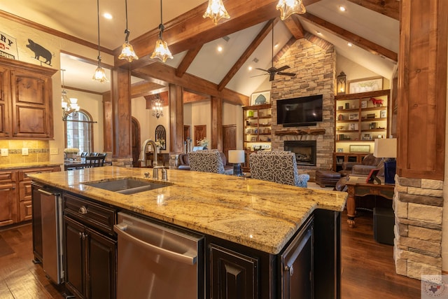
[[[55,72],[0,57],[0,137],[52,139]]]

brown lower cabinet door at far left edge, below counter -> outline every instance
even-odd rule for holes
[[[0,183],[0,225],[15,223],[17,200],[15,182]]]

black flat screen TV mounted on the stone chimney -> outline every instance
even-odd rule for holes
[[[279,99],[277,104],[277,124],[283,127],[316,125],[322,121],[323,95]]]

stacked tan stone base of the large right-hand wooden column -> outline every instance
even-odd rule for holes
[[[395,240],[398,274],[422,279],[442,274],[443,181],[395,176]]]

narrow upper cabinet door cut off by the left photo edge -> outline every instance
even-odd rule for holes
[[[10,137],[10,72],[0,67],[0,137]]]

